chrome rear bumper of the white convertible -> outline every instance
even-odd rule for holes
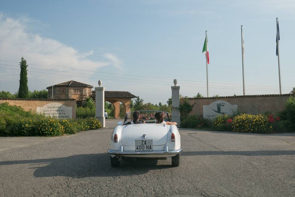
[[[175,151],[114,151],[108,150],[111,155],[175,155],[180,153],[182,149]]]

